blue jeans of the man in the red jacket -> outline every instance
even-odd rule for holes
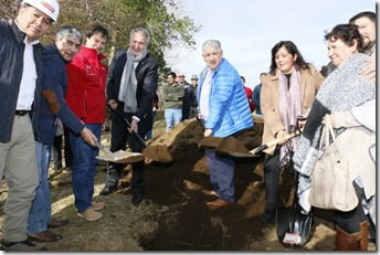
[[[96,138],[101,140],[102,125],[86,124]],[[77,212],[86,211],[93,201],[94,177],[96,173],[98,155],[97,147],[92,147],[85,142],[81,136],[70,132],[70,144],[73,152],[72,179],[75,208]]]

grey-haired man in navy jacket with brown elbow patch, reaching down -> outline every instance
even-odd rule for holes
[[[57,227],[68,223],[68,220],[59,221],[51,216],[48,170],[56,132],[56,117],[73,132],[81,134],[85,141],[95,145],[95,135],[76,118],[63,98],[67,86],[65,62],[70,62],[80,51],[82,41],[83,35],[78,30],[73,26],[62,26],[56,33],[55,43],[46,46],[42,55],[42,96],[44,99],[39,106],[39,118],[35,118],[35,115],[32,118],[39,187],[35,190],[28,219],[28,237],[38,242],[61,240],[62,235],[54,234],[48,227]]]

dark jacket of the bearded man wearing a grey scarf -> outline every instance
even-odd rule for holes
[[[124,103],[119,102],[118,94],[126,61],[127,51],[117,51],[108,67],[107,75],[107,100],[115,99],[118,104],[117,110],[120,113],[123,113]],[[136,98],[138,109],[134,115],[140,119],[139,129],[144,126],[144,129],[148,128],[147,130],[149,130],[152,127],[150,118],[152,109],[151,104],[154,102],[158,84],[158,64],[149,54],[147,54],[146,57],[144,57],[137,65],[136,78]]]

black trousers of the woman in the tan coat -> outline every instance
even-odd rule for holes
[[[273,217],[276,215],[278,200],[278,181],[281,173],[279,150],[273,156],[267,155],[265,158],[265,215]]]

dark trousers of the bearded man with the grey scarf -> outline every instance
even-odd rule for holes
[[[125,114],[125,117],[130,121],[131,115]],[[141,152],[145,145],[136,138],[134,134],[128,132],[127,124],[118,116],[114,116],[112,119],[110,127],[110,151],[125,150],[128,147],[133,152]],[[145,137],[146,130],[139,128],[139,136]],[[107,179],[113,179],[113,183],[117,183],[120,178],[122,169],[125,164],[123,163],[108,163]],[[131,176],[131,194],[133,196],[141,196],[144,193],[144,161],[133,163],[133,176]]]

